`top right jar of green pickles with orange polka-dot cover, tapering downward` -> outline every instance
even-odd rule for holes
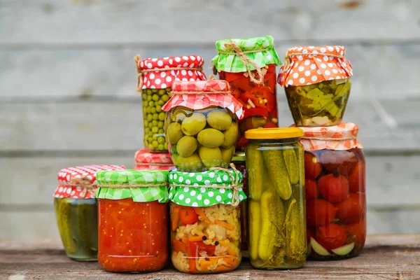
[[[341,45],[294,47],[279,73],[295,125],[320,127],[342,122],[353,69]]]

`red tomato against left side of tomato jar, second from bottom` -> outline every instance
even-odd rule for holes
[[[307,224],[313,227],[328,225],[335,218],[337,208],[326,200],[307,202]]]

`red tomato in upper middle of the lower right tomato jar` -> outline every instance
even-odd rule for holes
[[[349,196],[349,181],[342,175],[328,174],[318,179],[318,190],[325,200],[341,202]]]

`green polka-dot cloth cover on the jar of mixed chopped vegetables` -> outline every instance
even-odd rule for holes
[[[169,200],[190,207],[210,207],[216,204],[236,206],[239,202],[246,200],[241,182],[241,172],[235,172],[232,169],[229,172],[223,170],[172,171],[169,172]],[[236,192],[235,183],[237,183]],[[215,188],[211,188],[211,186]]]

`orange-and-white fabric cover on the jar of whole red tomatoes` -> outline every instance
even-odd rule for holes
[[[295,127],[295,125],[290,125]],[[358,126],[355,123],[340,123],[330,127],[299,127],[303,130],[300,144],[305,151],[349,150],[363,148],[357,141]]]

